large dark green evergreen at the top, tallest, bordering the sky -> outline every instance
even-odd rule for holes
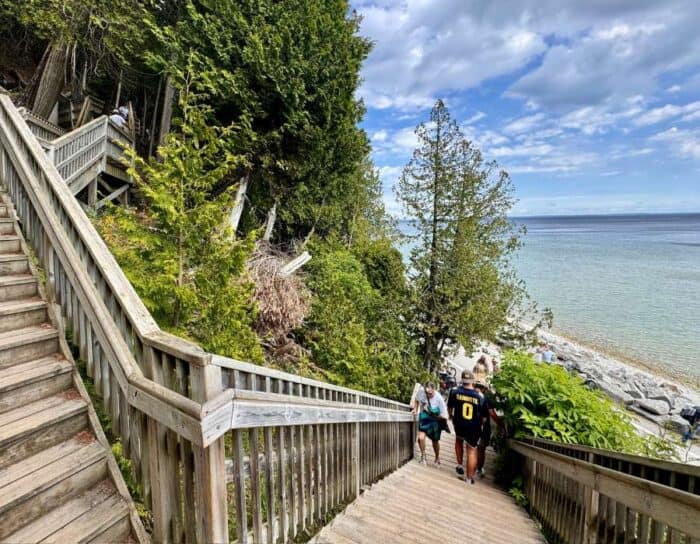
[[[276,203],[275,239],[326,235],[346,224],[358,165],[369,152],[355,98],[369,42],[359,18],[337,0],[182,0],[176,22],[146,18],[160,47],[151,66],[176,88],[194,59],[216,122],[235,123],[248,159],[244,228],[257,228]],[[348,196],[346,196],[348,195]]]

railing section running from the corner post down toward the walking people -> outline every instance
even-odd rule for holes
[[[406,404],[214,356],[233,388],[229,528],[288,542],[413,456]]]

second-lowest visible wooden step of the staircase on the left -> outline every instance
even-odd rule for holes
[[[0,474],[0,540],[105,478],[106,451],[92,435],[84,435]]]

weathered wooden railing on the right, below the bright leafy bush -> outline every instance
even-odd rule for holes
[[[700,542],[700,467],[547,440],[511,441],[550,542]]]

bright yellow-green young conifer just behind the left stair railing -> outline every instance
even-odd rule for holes
[[[262,362],[245,266],[252,238],[235,240],[227,213],[235,186],[217,191],[242,159],[233,129],[207,124],[210,110],[181,93],[182,118],[159,160],[129,151],[142,212],[112,208],[97,227],[161,327],[221,355]]]

